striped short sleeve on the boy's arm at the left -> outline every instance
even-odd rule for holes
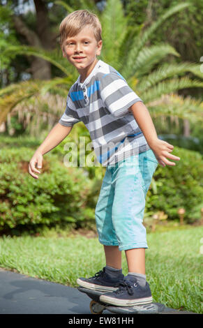
[[[73,126],[79,121],[80,117],[78,116],[75,105],[68,94],[66,99],[66,110],[61,116],[61,119],[59,119],[59,123],[62,126]]]

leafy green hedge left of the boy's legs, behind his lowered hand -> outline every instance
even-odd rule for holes
[[[68,223],[81,226],[94,219],[88,202],[93,182],[84,170],[65,167],[57,155],[46,154],[38,179],[28,173],[33,150],[3,149],[0,170],[0,230]],[[91,200],[91,203],[94,202]]]

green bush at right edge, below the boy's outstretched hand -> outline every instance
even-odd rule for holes
[[[181,160],[175,167],[158,166],[146,208],[164,211],[169,220],[179,220],[177,211],[183,208],[186,211],[184,221],[193,223],[201,218],[203,208],[203,157],[196,151],[179,147],[174,147],[173,154]]]

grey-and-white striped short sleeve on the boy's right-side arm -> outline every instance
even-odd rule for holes
[[[100,98],[114,117],[122,117],[128,108],[142,101],[126,80],[118,73],[108,73],[100,79]],[[143,101],[142,101],[143,102]]]

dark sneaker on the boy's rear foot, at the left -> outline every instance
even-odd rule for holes
[[[103,270],[98,271],[91,278],[77,278],[78,285],[89,288],[91,290],[100,290],[101,292],[111,292],[119,288],[119,283],[123,281],[123,274],[119,274],[118,278],[112,278]]]

